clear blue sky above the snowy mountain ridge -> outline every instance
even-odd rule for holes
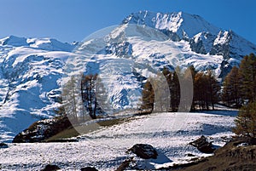
[[[0,0],[0,38],[54,37],[71,43],[147,9],[199,14],[256,44],[255,7],[255,0]]]

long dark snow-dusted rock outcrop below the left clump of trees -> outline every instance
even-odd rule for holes
[[[17,134],[13,143],[42,142],[70,126],[72,124],[67,117],[55,117],[54,119],[38,121]]]

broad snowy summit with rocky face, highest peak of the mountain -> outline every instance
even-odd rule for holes
[[[187,14],[182,11],[173,13],[155,13],[147,10],[130,14],[123,20],[123,24],[137,24],[153,27],[161,31],[175,33],[180,39],[194,37],[199,32],[211,32],[217,35],[221,30],[208,23],[201,16]]]

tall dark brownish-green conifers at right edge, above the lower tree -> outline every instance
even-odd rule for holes
[[[224,78],[223,101],[226,105],[241,105],[256,100],[256,56],[246,55],[239,67],[234,66]]]

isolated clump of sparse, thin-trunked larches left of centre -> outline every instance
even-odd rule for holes
[[[83,122],[90,116],[102,113],[96,95],[97,75],[82,75],[80,79],[70,77],[62,88],[62,105],[57,113],[68,115],[73,122]],[[99,87],[99,86],[98,86]],[[102,92],[99,91],[99,95]]]

